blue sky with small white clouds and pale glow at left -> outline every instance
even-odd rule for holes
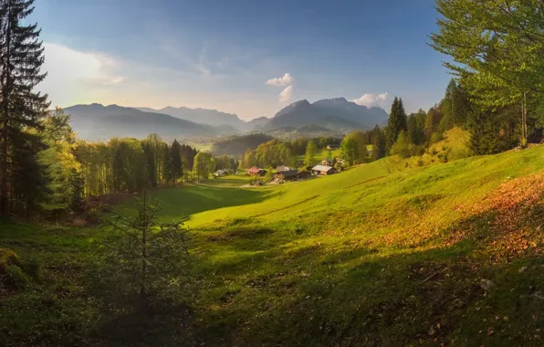
[[[272,117],[344,97],[407,111],[444,97],[428,46],[434,0],[38,0],[53,106],[222,110]]]

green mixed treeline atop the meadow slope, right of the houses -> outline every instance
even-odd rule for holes
[[[521,122],[516,107],[479,112],[466,88],[452,79],[445,89],[445,97],[427,111],[420,109],[406,114],[403,100],[395,97],[387,125],[346,135],[341,143],[342,158],[354,164],[386,155],[403,158],[423,155],[431,144],[443,140],[445,131],[455,127],[469,131],[468,147],[473,154],[502,152],[520,142]],[[540,130],[534,128],[532,139],[539,133]]]

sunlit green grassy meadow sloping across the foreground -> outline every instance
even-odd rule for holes
[[[544,147],[389,165],[150,193],[162,221],[190,216],[198,290],[190,316],[130,334],[108,329],[117,321],[85,291],[81,269],[103,229],[0,225],[4,247],[45,266],[36,289],[0,299],[0,336],[6,345],[540,345]],[[136,208],[136,199],[116,206]]]

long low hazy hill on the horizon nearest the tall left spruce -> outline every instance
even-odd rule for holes
[[[64,110],[70,124],[84,140],[109,140],[112,137],[145,138],[152,132],[163,137],[191,138],[216,136],[223,131],[209,125],[184,121],[167,114],[145,112],[117,105],[76,105]]]

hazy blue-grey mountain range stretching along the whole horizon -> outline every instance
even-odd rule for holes
[[[247,132],[292,132],[298,128],[310,136],[311,129],[319,130],[320,134],[327,130],[341,134],[382,125],[388,117],[381,108],[367,108],[344,98],[313,103],[300,100],[279,110],[273,118],[259,117],[251,121],[242,121],[235,114],[219,110],[170,106],[155,110],[93,103],[68,107],[65,112],[71,115],[71,125],[78,136],[89,141],[103,141],[115,136],[144,138],[152,132],[165,138],[180,139]]]

